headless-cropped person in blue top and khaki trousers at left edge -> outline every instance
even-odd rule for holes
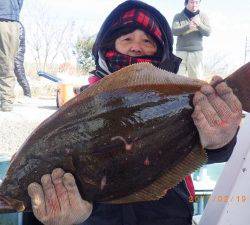
[[[1,110],[11,111],[14,102],[14,57],[19,44],[19,13],[23,0],[0,3],[0,98]]]

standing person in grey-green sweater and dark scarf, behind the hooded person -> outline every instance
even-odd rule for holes
[[[182,59],[178,74],[202,79],[202,39],[209,36],[208,17],[199,10],[200,0],[185,0],[185,8],[174,16],[173,35],[177,36],[176,55]]]

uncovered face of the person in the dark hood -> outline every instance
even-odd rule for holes
[[[154,55],[157,52],[157,45],[148,34],[137,29],[117,38],[115,49],[124,55],[136,57]]]

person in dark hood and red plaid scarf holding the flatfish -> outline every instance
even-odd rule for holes
[[[92,51],[96,70],[90,83],[140,62],[177,73],[180,59],[172,51],[173,36],[165,17],[141,1],[125,1],[111,12],[97,35]],[[195,94],[192,118],[208,163],[225,162],[236,143],[241,103],[221,78],[214,77],[211,84],[215,88],[204,85]],[[87,203],[74,177],[62,169],[44,175],[41,185],[29,185],[28,192],[34,215],[46,225],[192,224],[194,187],[190,176],[160,200],[131,204]]]

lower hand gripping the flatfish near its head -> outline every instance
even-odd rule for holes
[[[84,201],[72,174],[54,169],[41,178],[41,184],[31,183],[34,215],[45,225],[73,225],[85,221],[92,212],[92,204]]]

